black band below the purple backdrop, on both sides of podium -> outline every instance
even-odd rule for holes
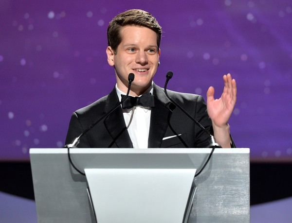
[[[292,196],[292,162],[251,162],[251,205]],[[34,200],[30,162],[1,161],[0,191]]]

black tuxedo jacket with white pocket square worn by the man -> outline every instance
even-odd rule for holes
[[[181,105],[192,117],[212,133],[206,104],[200,95],[167,91],[168,95]],[[202,148],[209,144],[209,136],[182,111],[171,103],[163,88],[154,84],[155,107],[151,108],[148,148]],[[95,120],[113,108],[119,99],[115,88],[109,95],[75,111],[71,117],[66,144],[72,143]],[[176,136],[176,137],[171,137]],[[169,137],[169,138],[165,138]],[[83,137],[78,147],[83,148],[133,148],[126,128],[122,108],[113,111],[97,123]]]

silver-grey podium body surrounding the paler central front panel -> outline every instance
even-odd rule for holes
[[[86,168],[195,168],[198,172],[210,152],[211,149],[201,148],[70,150],[73,162],[83,171]],[[38,221],[93,223],[86,177],[73,169],[67,149],[31,149],[30,157]],[[249,149],[215,149],[208,165],[194,180],[197,190],[189,223],[248,223],[249,168]]]

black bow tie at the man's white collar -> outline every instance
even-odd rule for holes
[[[126,95],[121,95],[122,101],[126,97]],[[141,97],[131,97],[128,96],[128,98],[122,103],[122,108],[129,109],[133,106],[143,106],[143,107],[154,107],[154,97],[151,95],[151,93],[146,93],[142,95]]]

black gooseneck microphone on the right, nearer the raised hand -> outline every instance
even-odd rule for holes
[[[208,145],[208,148],[222,148],[216,141],[214,136],[211,135],[211,133],[209,133],[204,126],[201,125],[200,122],[198,122],[197,120],[195,120],[190,114],[188,114],[178,103],[176,103],[173,99],[171,99],[166,91],[166,86],[168,84],[168,81],[172,78],[173,76],[173,72],[172,71],[168,71],[166,73],[166,81],[165,81],[165,85],[164,85],[164,93],[166,95],[166,97],[172,102],[174,103],[187,117],[189,117],[192,121],[194,121],[206,134],[208,134],[210,136],[210,144]]]

